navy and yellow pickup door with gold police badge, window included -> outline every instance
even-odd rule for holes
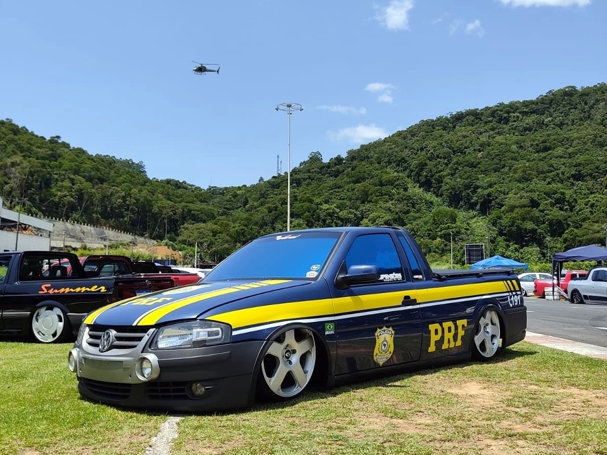
[[[344,255],[345,269],[377,266],[371,283],[333,288],[336,313],[335,374],[419,360],[421,323],[417,289],[390,233],[354,238]]]

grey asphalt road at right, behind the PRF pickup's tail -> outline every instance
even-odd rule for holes
[[[607,348],[607,305],[525,297],[527,330]]]

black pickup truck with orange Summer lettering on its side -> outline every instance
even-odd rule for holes
[[[75,335],[94,309],[173,286],[171,277],[90,277],[72,253],[5,251],[0,253],[0,334],[60,342]]]

